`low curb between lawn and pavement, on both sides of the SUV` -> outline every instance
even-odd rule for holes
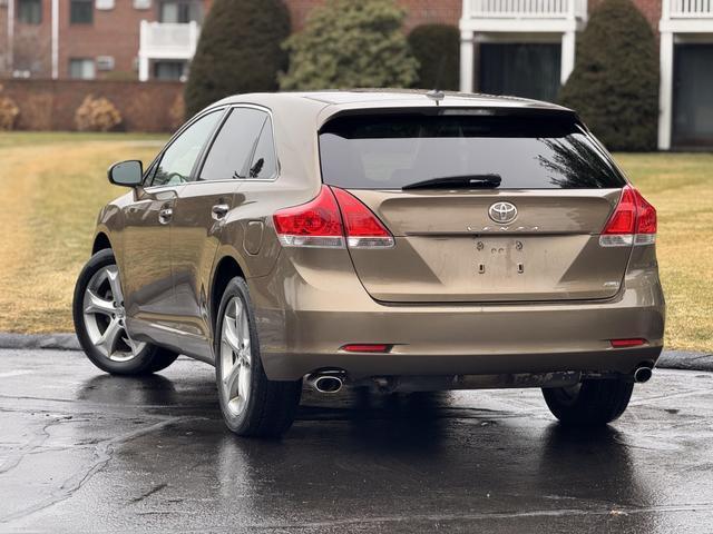
[[[0,349],[81,350],[74,334],[2,334]],[[664,350],[656,367],[663,369],[713,372],[713,354],[693,350]]]

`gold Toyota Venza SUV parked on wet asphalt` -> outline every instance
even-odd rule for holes
[[[74,300],[119,375],[213,364],[236,434],[302,383],[540,387],[606,424],[662,350],[656,211],[577,116],[438,91],[243,95],[191,119],[98,217]]]

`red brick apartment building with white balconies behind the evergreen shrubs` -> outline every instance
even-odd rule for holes
[[[325,0],[284,0],[294,30]],[[359,0],[353,0],[359,1]],[[466,91],[553,100],[602,0],[397,0],[461,32]],[[633,0],[658,33],[661,149],[713,147],[713,0]],[[0,0],[0,77],[184,79],[212,0]]]

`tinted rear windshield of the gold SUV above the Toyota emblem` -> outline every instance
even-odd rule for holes
[[[500,177],[498,189],[618,188],[625,181],[573,118],[360,115],[320,132],[325,184],[401,189],[463,176]]]

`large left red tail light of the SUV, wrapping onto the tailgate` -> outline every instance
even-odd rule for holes
[[[281,209],[273,216],[280,243],[285,247],[384,248],[393,236],[356,197],[336,187],[322,186],[313,200]]]

